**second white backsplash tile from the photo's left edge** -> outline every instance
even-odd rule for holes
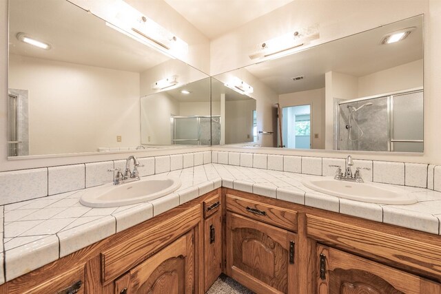
[[[49,195],[85,188],[85,165],[48,167]]]

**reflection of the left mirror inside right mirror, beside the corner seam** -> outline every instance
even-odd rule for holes
[[[252,86],[238,78],[226,82],[212,78],[213,145],[256,144],[257,112],[256,100],[249,96],[252,92]]]

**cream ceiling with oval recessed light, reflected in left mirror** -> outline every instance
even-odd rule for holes
[[[143,72],[170,59],[68,1],[9,3],[11,54],[129,72]],[[19,32],[50,43],[52,49],[42,50],[18,41]]]

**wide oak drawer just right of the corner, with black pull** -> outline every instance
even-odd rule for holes
[[[227,195],[227,210],[276,227],[297,231],[297,213],[234,195]]]

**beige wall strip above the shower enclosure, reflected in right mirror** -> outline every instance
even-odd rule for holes
[[[358,97],[422,87],[423,61],[413,61],[358,78]]]

